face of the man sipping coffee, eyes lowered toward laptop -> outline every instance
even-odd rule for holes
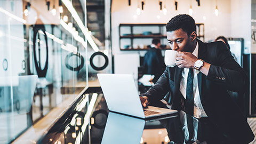
[[[174,51],[191,52],[191,46],[193,46],[191,37],[181,28],[174,31],[167,31],[167,41]]]

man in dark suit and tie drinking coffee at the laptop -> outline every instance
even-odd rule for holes
[[[177,66],[166,67],[156,84],[140,94],[142,105],[154,105],[169,92],[165,100],[172,109],[184,110],[202,122],[207,143],[252,141],[246,118],[227,92],[244,92],[249,78],[226,45],[199,41],[195,20],[187,14],[172,18],[166,31],[171,49],[178,51]]]

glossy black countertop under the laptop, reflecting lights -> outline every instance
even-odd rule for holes
[[[66,111],[37,143],[223,143],[223,135],[205,127],[207,118],[198,120],[178,111],[172,117],[145,121],[112,113],[101,92],[83,94]]]

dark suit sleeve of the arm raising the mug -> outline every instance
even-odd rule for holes
[[[248,86],[246,71],[234,60],[226,45],[218,42],[215,49],[214,65],[211,65],[207,79],[225,86],[227,90],[243,92]]]

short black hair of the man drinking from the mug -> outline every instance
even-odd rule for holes
[[[180,28],[189,36],[193,31],[196,31],[195,20],[188,14],[179,14],[173,17],[166,25],[166,31],[174,31]]]

